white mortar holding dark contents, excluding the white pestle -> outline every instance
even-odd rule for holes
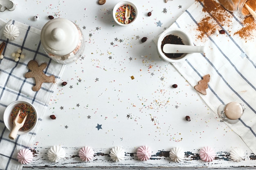
[[[164,53],[164,44],[194,45],[189,33],[186,31],[180,28],[166,29],[162,34],[159,35],[157,40],[157,52],[162,59],[172,63],[186,60],[191,53]]]

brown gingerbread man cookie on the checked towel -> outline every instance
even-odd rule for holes
[[[25,74],[26,78],[34,77],[36,80],[36,86],[32,88],[33,91],[39,91],[43,82],[51,83],[55,81],[54,75],[47,76],[43,73],[43,70],[46,68],[47,64],[43,63],[40,66],[35,60],[31,60],[27,67],[29,68],[29,72]]]

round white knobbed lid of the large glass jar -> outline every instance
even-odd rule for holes
[[[47,22],[41,31],[41,43],[46,52],[63,56],[71,53],[79,42],[79,32],[70,20],[56,18]]]

